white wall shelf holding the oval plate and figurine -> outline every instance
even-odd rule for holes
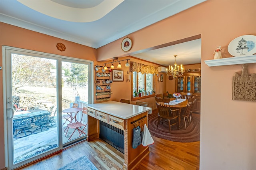
[[[256,63],[256,55],[250,55],[246,57],[229,57],[229,58],[221,58],[221,59],[211,59],[211,60],[204,60],[204,62],[209,67],[221,66],[221,65]]]

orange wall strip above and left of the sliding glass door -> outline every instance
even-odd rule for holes
[[[66,46],[65,51],[56,48],[57,43]],[[38,32],[32,32],[16,26],[11,26],[0,22],[0,66],[2,66],[2,45],[31,49],[68,57],[87,59],[96,61],[97,50],[91,47],[69,42],[52,36],[46,36]],[[0,82],[2,70],[0,70]],[[3,119],[3,85],[0,84],[0,169],[4,168],[4,119]]]

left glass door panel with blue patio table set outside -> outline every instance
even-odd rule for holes
[[[57,60],[6,54],[8,168],[13,169],[60,147],[58,119],[53,116],[57,78],[51,73]]]

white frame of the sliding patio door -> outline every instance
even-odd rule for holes
[[[27,164],[31,161],[34,161],[42,156],[46,156],[49,154],[49,152],[45,152],[42,153],[38,156],[33,157],[32,159],[28,159],[25,160],[23,162],[19,162],[17,164],[13,164],[13,138],[12,135],[8,135],[8,134],[12,134],[12,118],[13,117],[13,109],[12,109],[12,97],[8,96],[10,94],[12,94],[12,88],[8,88],[7,85],[9,85],[11,83],[11,67],[12,67],[12,63],[11,63],[11,55],[12,53],[18,53],[18,54],[22,54],[22,55],[29,55],[29,56],[36,56],[36,57],[44,57],[44,58],[49,58],[49,59],[56,59],[57,60],[57,64],[58,64],[58,82],[61,82],[61,61],[62,59],[70,59],[73,61],[82,61],[82,62],[86,62],[88,63],[89,66],[89,80],[88,80],[88,89],[89,89],[89,101],[88,103],[92,103],[93,99],[93,94],[94,94],[94,88],[93,88],[93,79],[94,79],[94,75],[93,75],[93,70],[92,70],[92,66],[93,66],[93,61],[88,61],[88,60],[84,60],[84,59],[76,59],[76,58],[72,58],[72,57],[65,57],[62,55],[55,55],[55,54],[50,54],[50,53],[43,53],[40,51],[32,51],[32,50],[28,50],[28,49],[21,49],[21,48],[16,48],[16,47],[9,47],[9,46],[2,46],[2,73],[3,73],[3,116],[4,116],[4,144],[5,144],[5,166],[8,167],[8,169],[13,169],[13,168],[17,168],[19,166],[22,166],[24,164]],[[10,58],[9,58],[10,57]],[[62,91],[61,91],[61,83],[58,83],[57,85],[58,87],[58,99],[60,99]],[[61,102],[58,102],[58,108],[59,108],[59,113],[62,112],[62,108],[61,108]],[[8,118],[10,117],[10,118]],[[9,121],[9,122],[8,122]],[[62,119],[59,116],[58,118],[58,122],[61,122]],[[62,123],[58,124],[58,134],[59,134],[59,143],[58,143],[58,147],[54,148],[53,150],[51,150],[51,152],[55,152],[57,150],[62,149]]]

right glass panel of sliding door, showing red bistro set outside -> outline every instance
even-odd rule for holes
[[[77,103],[79,108],[85,107],[88,103],[89,66],[84,62],[74,62],[74,60],[62,61],[62,110],[73,107],[73,103]],[[72,113],[72,116],[74,115],[75,113]],[[62,143],[64,145],[86,138],[84,133],[80,135],[78,130],[68,126],[70,121],[69,114],[62,113]],[[71,122],[86,124],[87,117],[84,116],[82,111],[79,111]],[[87,130],[84,130],[84,132],[87,132]]]

